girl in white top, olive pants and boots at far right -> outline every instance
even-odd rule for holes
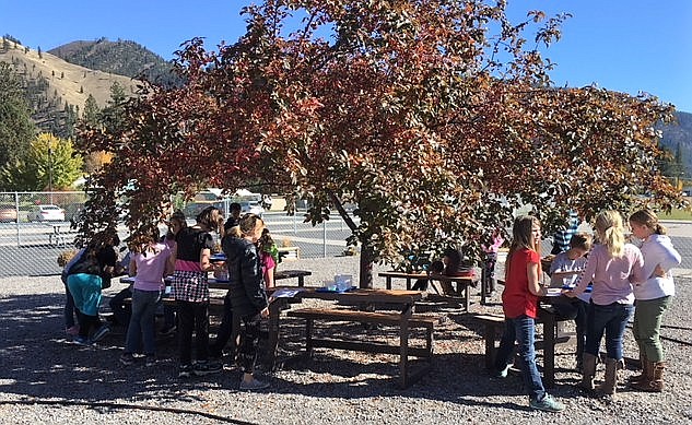
[[[680,264],[680,253],[673,248],[666,228],[653,211],[641,210],[630,216],[632,234],[642,240],[644,256],[643,282],[634,284],[635,312],[632,332],[640,347],[642,375],[631,380],[631,387],[650,392],[664,389],[666,368],[660,344],[660,322],[676,295],[670,269]]]

